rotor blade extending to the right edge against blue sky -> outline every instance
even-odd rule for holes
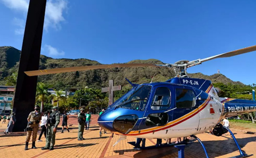
[[[246,47],[246,48],[243,48],[243,49],[230,51],[230,52],[227,52],[227,53],[222,53],[222,54],[211,56],[211,57],[206,57],[206,58],[200,59],[198,62],[206,62],[206,61],[213,60],[213,59],[216,59],[216,58],[221,58],[221,57],[231,57],[231,56],[244,54],[244,53],[248,53],[248,52],[255,51],[255,50],[256,50],[256,45],[251,46],[251,47]]]

